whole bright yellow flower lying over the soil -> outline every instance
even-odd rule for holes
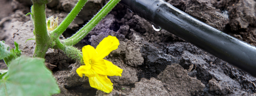
[[[122,76],[123,69],[115,66],[112,62],[103,59],[111,51],[116,50],[119,45],[117,37],[108,36],[104,38],[94,49],[90,45],[82,48],[83,60],[85,65],[76,69],[77,74],[83,74],[89,78],[91,87],[110,93],[113,89],[108,76]]]

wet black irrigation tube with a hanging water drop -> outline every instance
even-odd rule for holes
[[[256,77],[256,48],[197,20],[163,0],[121,0],[154,25]]]

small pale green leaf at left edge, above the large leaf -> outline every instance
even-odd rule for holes
[[[9,50],[9,46],[5,44],[5,41],[0,41],[0,59],[4,59],[5,57],[9,56],[11,53]]]

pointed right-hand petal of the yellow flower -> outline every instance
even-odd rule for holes
[[[104,71],[104,75],[108,76],[122,76],[123,69],[120,69],[112,62],[103,59],[106,63],[107,69]]]

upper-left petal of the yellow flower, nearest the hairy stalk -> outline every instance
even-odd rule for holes
[[[93,61],[95,56],[98,55],[94,47],[91,45],[84,46],[82,48],[82,53],[83,53],[83,60],[85,62],[85,65],[88,63],[91,63],[90,61]]]

